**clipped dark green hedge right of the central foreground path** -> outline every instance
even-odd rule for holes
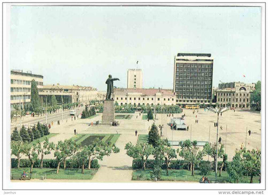
[[[205,163],[205,162],[207,162],[207,161],[202,160],[200,162],[200,164],[201,163]],[[153,163],[154,163],[154,160],[148,159],[147,162],[146,162],[146,164],[145,164],[145,168],[153,169]],[[211,162],[211,163],[212,163],[211,169],[214,169],[214,161]],[[222,161],[218,161],[218,169],[221,168],[221,164],[222,164]],[[132,161],[132,168],[133,169],[141,169],[142,168],[142,161],[141,161],[141,159],[133,159],[133,161]],[[166,168],[166,164],[163,163],[162,166],[161,166],[161,168],[162,169],[165,169]],[[186,161],[186,160],[171,160],[170,163],[169,163],[168,168],[171,168],[171,169],[189,169],[189,162]],[[195,169],[199,169],[199,165],[198,164],[195,164]],[[223,166],[223,170],[226,170],[225,164]]]

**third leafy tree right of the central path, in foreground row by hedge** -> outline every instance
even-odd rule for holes
[[[205,156],[204,151],[200,151],[197,146],[197,141],[191,142],[190,140],[185,140],[180,142],[179,145],[182,147],[181,151],[177,149],[177,152],[181,157],[191,164],[192,176],[195,175],[195,165],[198,164]]]

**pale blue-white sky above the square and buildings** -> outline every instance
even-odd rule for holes
[[[127,87],[138,67],[144,88],[172,89],[177,53],[211,53],[213,86],[261,79],[259,7],[12,6],[10,17],[11,69],[45,85],[106,90],[112,74]]]

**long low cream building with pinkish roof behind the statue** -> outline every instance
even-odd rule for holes
[[[114,100],[119,105],[176,105],[176,95],[172,89],[131,89],[115,88]]]

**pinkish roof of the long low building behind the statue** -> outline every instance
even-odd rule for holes
[[[161,92],[163,95],[174,95],[172,89],[154,89],[154,88],[115,88],[115,92],[119,94],[127,93],[142,93],[143,95],[155,95],[157,92]]]

